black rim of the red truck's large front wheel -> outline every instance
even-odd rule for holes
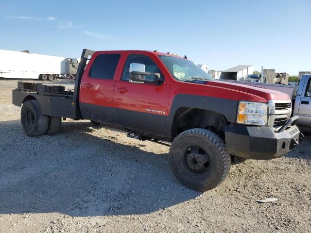
[[[193,146],[185,150],[184,166],[194,175],[202,175],[210,165],[207,152],[201,147]]]

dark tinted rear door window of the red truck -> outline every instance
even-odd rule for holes
[[[120,59],[120,54],[100,54],[95,58],[91,70],[90,77],[96,79],[113,80],[116,68]]]

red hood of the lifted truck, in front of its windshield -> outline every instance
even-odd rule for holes
[[[255,86],[244,85],[240,83],[229,83],[224,81],[209,81],[207,85],[210,87],[221,87],[225,89],[234,90],[241,93],[248,93],[252,96],[256,96],[261,102],[268,102],[269,100],[291,100],[289,95],[264,88]]]

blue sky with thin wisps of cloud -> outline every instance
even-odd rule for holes
[[[1,0],[0,28],[5,50],[160,50],[216,70],[311,70],[311,0]]]

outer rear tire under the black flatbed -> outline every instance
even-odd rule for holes
[[[20,111],[20,120],[24,133],[35,137],[47,133],[49,116],[41,113],[37,100],[28,100],[23,103]]]

